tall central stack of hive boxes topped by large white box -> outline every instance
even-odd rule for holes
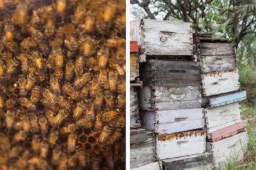
[[[143,19],[133,25],[131,38],[137,38],[144,62],[138,91],[141,124],[155,132],[155,154],[163,168],[212,162],[205,154],[201,71],[193,56],[191,23]]]

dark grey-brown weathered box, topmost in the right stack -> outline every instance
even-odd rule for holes
[[[202,55],[235,55],[234,43],[200,42]]]

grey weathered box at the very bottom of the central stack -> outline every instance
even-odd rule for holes
[[[186,155],[183,157],[162,160],[163,170],[174,169],[211,169],[213,154],[205,152],[203,154]]]

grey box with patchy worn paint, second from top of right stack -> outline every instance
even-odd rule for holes
[[[236,69],[235,55],[201,56],[201,73],[222,72]]]

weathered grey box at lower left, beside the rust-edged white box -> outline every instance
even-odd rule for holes
[[[146,134],[146,140],[130,144],[130,168],[155,161],[155,136],[151,131],[146,131]]]

